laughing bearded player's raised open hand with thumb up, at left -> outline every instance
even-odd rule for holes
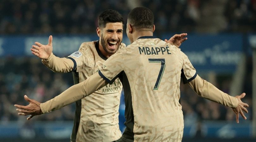
[[[47,45],[40,44],[39,42],[35,42],[37,45],[32,45],[33,48],[30,50],[32,54],[38,56],[40,59],[47,59],[52,53],[52,36],[49,37],[49,43]]]

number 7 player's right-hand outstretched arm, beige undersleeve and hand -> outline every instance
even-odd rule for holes
[[[220,91],[211,83],[203,80],[200,76],[189,82],[189,86],[201,97],[208,100],[223,104],[233,109],[236,114],[236,122],[239,123],[239,114],[246,119],[243,111],[248,113],[245,107],[249,107],[248,104],[243,103],[241,98],[244,98],[245,93],[242,93],[240,96],[229,96],[227,93]]]

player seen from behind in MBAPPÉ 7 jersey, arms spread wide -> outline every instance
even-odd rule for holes
[[[137,7],[128,15],[126,33],[131,44],[119,49],[101,69],[87,80],[71,86],[55,98],[39,103],[16,105],[19,115],[40,115],[87,97],[119,78],[125,92],[126,128],[118,140],[181,141],[183,114],[180,98],[180,75],[203,98],[231,107],[239,122],[248,112],[240,96],[232,97],[197,75],[187,56],[179,48],[153,37],[154,17],[150,9]],[[76,92],[76,93],[74,93]],[[113,98],[112,98],[113,99]]]

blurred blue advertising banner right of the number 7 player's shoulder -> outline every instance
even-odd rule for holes
[[[163,35],[162,39],[169,39]],[[200,71],[234,72],[242,54],[241,34],[188,35],[180,46],[190,62]]]

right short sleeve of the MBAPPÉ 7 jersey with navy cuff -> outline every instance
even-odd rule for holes
[[[192,66],[188,57],[182,52],[183,67],[181,69],[181,78],[183,83],[186,84],[191,80],[194,80],[197,76],[196,69]]]

